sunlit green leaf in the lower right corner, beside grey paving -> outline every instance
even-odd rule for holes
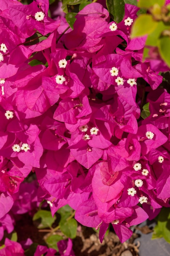
[[[170,208],[163,207],[158,215],[158,222],[154,228],[152,239],[161,237],[170,243]]]

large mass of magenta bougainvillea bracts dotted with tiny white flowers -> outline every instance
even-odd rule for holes
[[[18,190],[32,171],[53,215],[69,204],[101,242],[109,223],[124,242],[170,206],[170,94],[142,62],[146,37],[130,40],[137,7],[116,24],[91,3],[64,35],[48,9],[0,5],[0,218],[24,212]]]

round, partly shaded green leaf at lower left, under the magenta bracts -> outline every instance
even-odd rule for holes
[[[45,211],[45,210],[40,210],[36,212],[33,216],[34,225],[38,229],[44,229],[46,227],[51,228],[55,219],[56,217],[55,216],[54,218],[52,217],[51,211]]]

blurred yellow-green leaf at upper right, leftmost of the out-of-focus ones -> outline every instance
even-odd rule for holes
[[[132,25],[131,38],[152,33],[158,26],[150,14],[141,14]]]

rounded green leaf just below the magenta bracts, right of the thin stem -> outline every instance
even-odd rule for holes
[[[75,219],[66,220],[65,218],[62,218],[59,222],[60,230],[62,233],[69,237],[69,238],[75,238],[77,233],[77,221]]]

